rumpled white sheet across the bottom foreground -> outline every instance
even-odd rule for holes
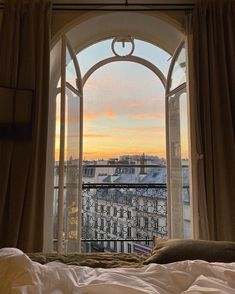
[[[15,248],[0,249],[1,294],[235,294],[235,263],[201,260],[142,268],[89,268],[33,262]]]

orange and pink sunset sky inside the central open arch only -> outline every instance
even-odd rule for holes
[[[142,65],[106,65],[85,85],[84,158],[165,156],[164,126],[163,86]]]

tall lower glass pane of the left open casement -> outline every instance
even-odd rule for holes
[[[78,251],[79,97],[66,88],[64,170],[64,252]]]

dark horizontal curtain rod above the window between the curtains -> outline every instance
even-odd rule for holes
[[[194,4],[167,3],[54,3],[52,9],[56,11],[190,11]],[[0,3],[0,10],[4,3]]]

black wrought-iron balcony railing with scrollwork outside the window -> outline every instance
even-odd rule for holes
[[[184,202],[187,202],[188,188],[182,187]],[[55,186],[55,202],[57,190]],[[66,181],[63,247],[67,252],[76,251],[77,246],[80,222],[77,192],[77,185]],[[54,214],[56,216],[56,210]],[[83,252],[150,252],[153,237],[168,236],[167,186],[162,183],[83,183],[81,227]],[[56,243],[56,234],[54,240]]]

